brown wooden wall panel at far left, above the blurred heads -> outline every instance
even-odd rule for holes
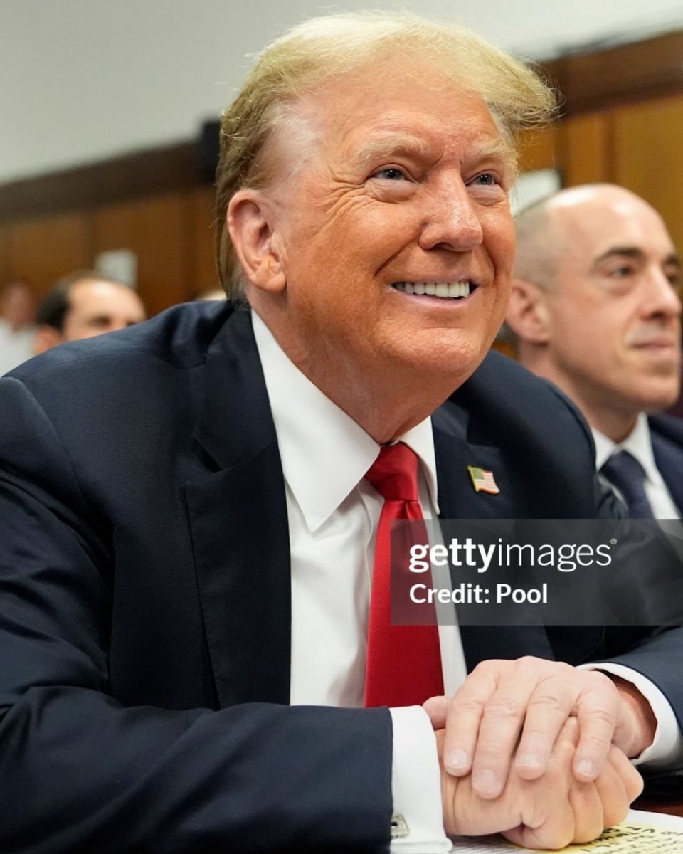
[[[56,278],[92,264],[85,213],[55,213],[7,226],[8,277],[27,278],[38,294]]]

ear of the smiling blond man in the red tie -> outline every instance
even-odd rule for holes
[[[238,190],[228,205],[228,232],[242,270],[252,284],[270,293],[287,284],[275,220],[271,202],[259,190]]]

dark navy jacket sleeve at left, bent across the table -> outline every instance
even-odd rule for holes
[[[42,407],[3,378],[0,851],[388,850],[388,711],[122,705],[115,574],[111,524]]]

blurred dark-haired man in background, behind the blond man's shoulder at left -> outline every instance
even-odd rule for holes
[[[127,284],[94,270],[73,272],[59,279],[38,306],[35,352],[125,329],[144,319],[143,302]]]

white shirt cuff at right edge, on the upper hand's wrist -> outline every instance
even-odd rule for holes
[[[683,736],[680,733],[678,721],[674,715],[674,710],[671,708],[671,704],[657,685],[641,673],[631,670],[630,667],[625,667],[623,664],[613,664],[612,662],[581,664],[577,669],[604,670],[605,673],[613,673],[615,676],[621,676],[622,679],[626,679],[637,687],[639,692],[650,703],[652,711],[657,718],[655,738],[651,746],[645,747],[645,750],[639,757],[631,760],[634,765],[642,764],[648,769],[667,769],[674,768],[680,764],[681,757],[683,757]]]

